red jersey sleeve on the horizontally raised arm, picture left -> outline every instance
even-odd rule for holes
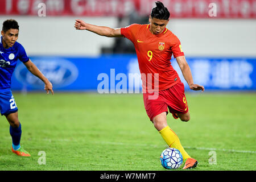
[[[121,34],[131,40],[131,42],[137,41],[137,35],[139,32],[139,28],[141,28],[141,24],[131,24],[125,28],[121,28]]]

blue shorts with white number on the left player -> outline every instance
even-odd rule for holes
[[[16,113],[18,107],[10,89],[0,90],[0,111],[1,115]]]

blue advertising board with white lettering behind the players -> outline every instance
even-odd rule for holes
[[[141,92],[141,78],[136,55],[102,55],[99,57],[30,57],[52,82],[54,90],[95,91],[99,93]],[[196,84],[206,90],[255,90],[256,58],[186,57]],[[172,67],[189,90],[179,65]],[[133,81],[131,81],[133,79]],[[12,78],[12,90],[43,90],[43,82],[18,63]],[[132,88],[131,88],[132,87]],[[119,91],[118,89],[119,88]],[[121,89],[121,91],[120,91]],[[136,91],[137,90],[137,91]]]

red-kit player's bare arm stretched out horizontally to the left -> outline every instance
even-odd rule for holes
[[[85,23],[81,19],[76,19],[75,28],[76,28],[76,30],[88,30],[95,34],[98,34],[101,36],[107,36],[109,38],[122,37],[121,28],[110,28],[110,27],[96,26],[93,24]]]

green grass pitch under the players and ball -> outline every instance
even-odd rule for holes
[[[11,152],[9,123],[2,116],[0,170],[167,170],[159,160],[167,146],[147,117],[142,94],[14,97],[21,144],[31,157]],[[187,101],[191,120],[181,122],[168,114],[167,121],[199,161],[191,170],[256,170],[256,94],[187,93]],[[39,151],[46,152],[46,164],[39,165]],[[209,164],[210,151],[216,152],[217,164]]]

